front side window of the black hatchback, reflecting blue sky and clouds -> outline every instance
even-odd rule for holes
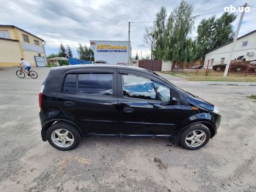
[[[123,97],[170,101],[170,89],[148,78],[122,74]]]

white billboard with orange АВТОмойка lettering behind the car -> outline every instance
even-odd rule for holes
[[[129,62],[129,41],[90,41],[95,61],[110,64]]]

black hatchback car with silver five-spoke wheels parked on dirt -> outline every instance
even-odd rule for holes
[[[213,104],[152,71],[121,65],[55,67],[39,105],[42,139],[60,150],[88,136],[164,137],[195,150],[221,120]]]

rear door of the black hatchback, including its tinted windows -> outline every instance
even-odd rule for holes
[[[57,101],[84,133],[118,134],[116,69],[84,69],[66,74]]]

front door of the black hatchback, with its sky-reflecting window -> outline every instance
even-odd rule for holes
[[[179,94],[143,72],[118,69],[120,132],[129,135],[171,135],[181,114]],[[159,95],[160,94],[160,95]],[[171,103],[171,95],[177,102]]]

